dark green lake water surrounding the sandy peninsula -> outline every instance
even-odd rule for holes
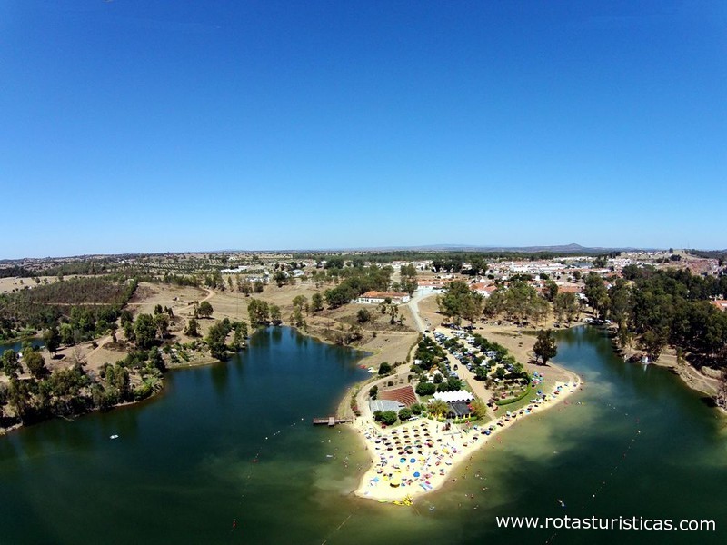
[[[353,497],[363,445],[311,425],[368,376],[361,355],[269,329],[230,362],[168,373],[157,399],[0,437],[0,543],[727,542],[724,420],[667,370],[620,361],[603,332],[560,333],[555,361],[583,391],[503,432],[413,508]],[[495,523],[566,514],[717,531]]]

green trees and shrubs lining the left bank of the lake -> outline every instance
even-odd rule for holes
[[[213,312],[208,302],[195,305],[195,315],[200,320],[209,319]],[[243,321],[231,322],[224,318],[209,328],[204,341],[199,339],[183,344],[172,342],[169,333],[172,320],[172,310],[161,305],[156,305],[154,314],[141,312],[135,318],[127,310],[119,312],[124,341],[116,340],[115,328],[108,331],[113,336],[112,344],[124,357],[101,365],[97,372],[88,372],[84,359],[78,354],[72,356],[69,366],[52,371],[41,351],[29,342],[23,344],[20,353],[5,350],[0,362],[8,381],[0,383],[0,427],[53,417],[68,418],[141,401],[162,390],[167,362],[173,365],[188,362],[190,352],[203,349],[215,359],[225,360],[246,345],[248,330]],[[190,319],[185,328],[191,337],[200,337],[196,322],[196,318]],[[64,337],[57,332],[49,334],[54,331],[55,326],[52,326],[44,334],[49,352],[55,352],[61,343],[65,343]],[[232,342],[228,343],[231,333]],[[76,339],[67,339],[68,344],[75,344]]]

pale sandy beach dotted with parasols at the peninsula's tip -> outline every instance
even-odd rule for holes
[[[352,425],[371,454],[372,467],[364,473],[354,493],[371,500],[407,504],[416,496],[437,490],[453,480],[453,470],[458,465],[503,430],[565,401],[581,387],[580,378],[573,374],[573,381],[556,382],[543,400],[512,414],[503,406],[495,421],[453,424],[448,430],[443,422],[427,418],[389,428],[369,419],[357,419]]]

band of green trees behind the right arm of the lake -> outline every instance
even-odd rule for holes
[[[573,293],[558,292],[554,282],[537,292],[520,279],[503,283],[486,300],[465,282],[451,282],[437,302],[455,323],[484,318],[522,325],[542,323],[549,312],[570,323],[587,304],[598,322],[615,325],[621,349],[637,347],[656,360],[670,345],[695,366],[727,366],[727,312],[710,303],[727,293],[727,276],[629,265],[622,277],[604,279],[590,272],[583,283],[581,302]]]

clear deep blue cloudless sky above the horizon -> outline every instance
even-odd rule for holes
[[[727,3],[3,0],[0,258],[727,247]]]

